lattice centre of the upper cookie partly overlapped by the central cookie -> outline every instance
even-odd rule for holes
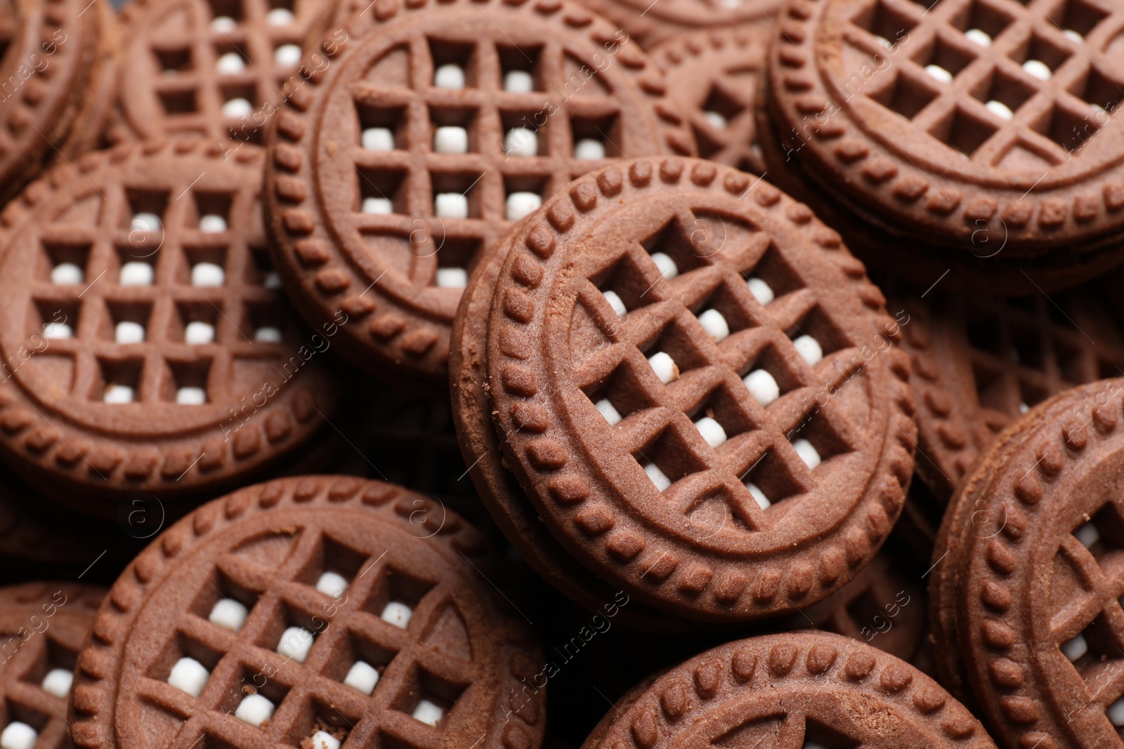
[[[411,283],[451,299],[498,230],[619,156],[628,137],[608,79],[575,77],[590,68],[561,42],[492,36],[457,44],[415,33],[352,86],[351,222]]]

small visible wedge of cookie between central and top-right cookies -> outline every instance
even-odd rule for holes
[[[668,74],[669,95],[688,112],[703,158],[764,171],[754,107],[771,29],[765,22],[703,29],[652,49]]]

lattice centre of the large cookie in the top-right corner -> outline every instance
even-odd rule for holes
[[[844,38],[892,62],[850,93],[973,162],[1049,168],[1080,158],[1124,97],[1118,71],[1085,44],[1107,44],[1121,13],[1097,0],[877,0]]]

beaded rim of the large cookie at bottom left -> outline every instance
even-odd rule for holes
[[[135,622],[149,590],[158,587],[173,574],[183,558],[183,550],[221,533],[247,513],[284,511],[320,506],[364,510],[373,517],[416,533],[419,526],[429,530],[428,537],[417,537],[419,544],[430,544],[446,557],[451,566],[460,557],[473,567],[488,569],[493,561],[484,538],[459,515],[439,503],[409,490],[378,481],[351,476],[303,476],[281,478],[238,490],[226,497],[202,505],[187,518],[170,527],[153,544],[129,563],[110,588],[98,611],[93,630],[78,656],[74,686],[71,689],[69,719],[72,723],[74,745],[81,749],[114,749],[119,745],[116,731],[116,681],[112,664],[120,660]],[[418,513],[424,518],[418,522]],[[443,522],[436,528],[436,518]],[[471,570],[465,569],[466,575]],[[480,573],[481,576],[483,573]],[[498,608],[491,586],[481,585],[483,602]],[[524,695],[523,678],[532,677],[538,669],[536,646],[529,630],[510,618],[497,621],[497,651],[502,674],[495,698],[493,724],[502,731],[491,732],[482,749],[529,749],[542,743],[546,728],[545,693],[542,689]],[[507,710],[507,695],[513,695]],[[515,720],[511,719],[515,716]],[[505,720],[506,719],[506,720]]]

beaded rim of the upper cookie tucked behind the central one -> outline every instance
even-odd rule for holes
[[[362,44],[365,25],[388,24],[404,15],[424,12],[430,8],[471,6],[487,11],[487,4],[502,3],[519,8],[529,4],[542,18],[568,27],[568,33],[586,29],[598,44],[618,44],[616,29],[584,8],[562,0],[387,0],[371,7],[364,17],[356,17],[348,33],[356,40],[341,42],[329,37],[320,45],[321,54],[343,64],[348,49]],[[370,19],[373,19],[370,20]],[[678,104],[665,98],[662,73],[636,46],[622,45],[615,58],[635,76],[638,91],[651,101],[655,125],[668,153],[694,154],[695,140],[686,126]],[[323,316],[323,305],[338,305],[364,332],[344,331],[361,349],[364,359],[377,356],[393,362],[404,371],[445,381],[447,351],[437,349],[447,339],[450,323],[433,322],[398,301],[366,287],[366,281],[353,270],[352,261],[332,239],[332,230],[317,223],[321,213],[317,204],[317,185],[310,174],[309,153],[319,148],[321,134],[310,121],[316,100],[316,86],[324,82],[330,67],[310,71],[305,85],[291,92],[285,106],[272,118],[268,135],[269,158],[265,167],[265,198],[269,207],[269,230],[277,239],[277,252],[285,262],[278,263],[282,276],[294,281],[288,287],[294,292],[298,309],[311,310],[309,317]],[[303,298],[303,299],[301,299]],[[375,299],[377,298],[377,299]],[[365,321],[360,325],[360,321]],[[426,363],[428,360],[428,364]],[[437,371],[434,371],[435,367]]]

